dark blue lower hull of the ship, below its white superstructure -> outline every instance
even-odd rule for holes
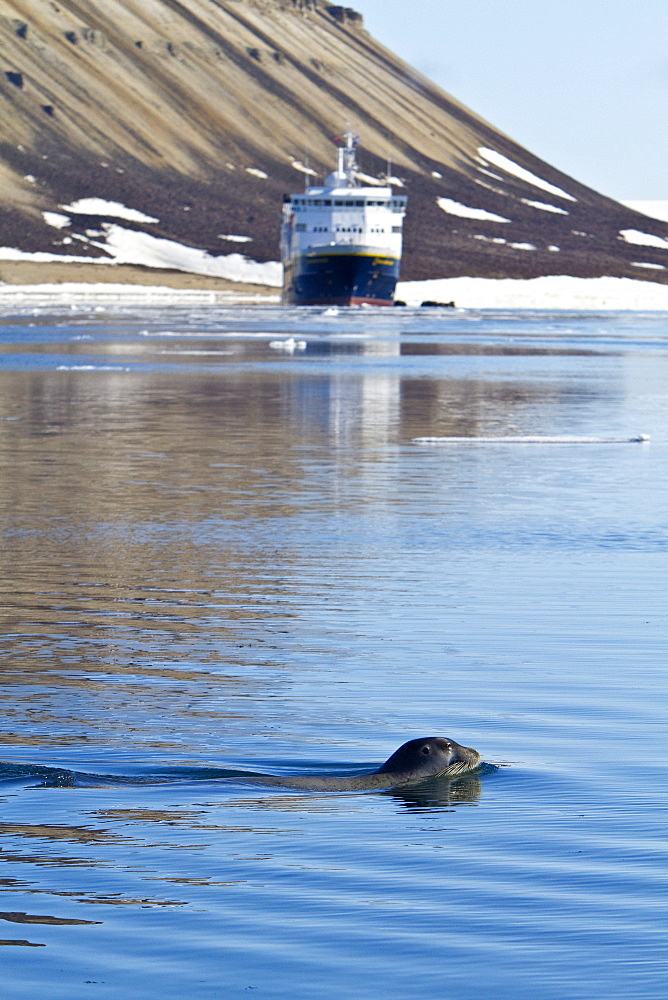
[[[392,306],[399,261],[373,248],[323,247],[285,263],[283,302],[297,306]]]

